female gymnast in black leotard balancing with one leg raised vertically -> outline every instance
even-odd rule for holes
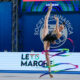
[[[55,44],[56,41],[58,40],[62,34],[62,30],[64,29],[64,25],[65,23],[63,22],[61,25],[59,25],[59,19],[58,17],[54,16],[54,19],[56,20],[56,29],[52,32],[48,32],[48,19],[50,16],[52,10],[52,4],[50,4],[50,6],[48,7],[48,12],[45,16],[45,20],[44,20],[44,27],[43,27],[43,34],[42,34],[42,40],[43,40],[43,44],[44,44],[44,50],[49,50],[50,49],[50,44]],[[50,66],[50,59],[49,59],[49,55],[48,52],[46,52],[45,54],[46,56],[46,60],[47,60],[47,65]],[[51,68],[48,68],[49,72],[51,72]],[[50,73],[49,76],[52,78],[53,75]]]

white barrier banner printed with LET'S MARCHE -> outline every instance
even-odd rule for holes
[[[55,52],[56,53],[56,52]],[[50,54],[55,54],[51,52]],[[80,53],[66,53],[70,56],[55,56],[50,58],[51,65],[56,63],[72,63],[80,66]],[[45,55],[40,52],[0,52],[0,70],[48,70],[41,66],[45,61]],[[74,68],[69,64],[52,67],[52,70]],[[80,71],[80,67],[69,71]]]

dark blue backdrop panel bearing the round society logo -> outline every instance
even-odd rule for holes
[[[42,40],[42,30],[44,25],[45,14],[41,13],[27,13],[22,16],[23,28],[23,51],[30,52],[34,50],[41,52],[44,50]],[[65,22],[65,28],[62,31],[62,37],[56,41],[56,44],[51,44],[51,48],[68,48],[70,52],[73,51],[73,44],[67,39],[71,38],[74,42],[74,52],[80,52],[80,13],[51,13],[48,21],[49,31],[54,30],[56,20],[53,18],[56,15],[59,18],[59,24]]]

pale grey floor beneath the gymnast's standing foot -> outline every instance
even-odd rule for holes
[[[0,73],[0,80],[80,80],[80,74],[54,74],[54,78],[39,76],[40,74]]]

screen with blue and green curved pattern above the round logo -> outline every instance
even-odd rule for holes
[[[80,11],[80,1],[22,2],[22,12],[47,12],[52,3],[52,12]]]

